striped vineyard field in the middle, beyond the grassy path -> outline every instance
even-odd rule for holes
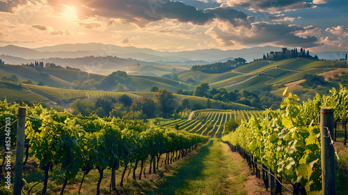
[[[173,127],[177,130],[203,134],[210,138],[221,138],[225,123],[231,118],[237,121],[248,120],[251,116],[260,117],[261,114],[261,111],[206,109],[195,111],[189,119],[156,119],[155,122],[160,127]]]

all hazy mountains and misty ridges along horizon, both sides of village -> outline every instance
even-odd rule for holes
[[[81,70],[126,70],[133,65],[202,65],[224,62],[242,57],[246,61],[262,58],[271,51],[281,51],[280,47],[252,47],[248,49],[221,50],[198,49],[194,51],[161,52],[138,47],[121,47],[102,43],[63,44],[29,49],[7,45],[0,47],[0,59],[10,64],[26,64],[32,61],[56,63],[56,65],[80,68]],[[320,52],[319,59],[342,59],[348,52]],[[314,55],[314,53],[311,53]],[[102,56],[102,57],[99,57]],[[93,63],[93,64],[92,64]],[[92,67],[91,67],[92,66]],[[95,72],[105,74],[104,72]]]

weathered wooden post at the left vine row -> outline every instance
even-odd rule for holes
[[[15,185],[13,187],[13,195],[20,195],[22,191],[23,155],[24,155],[24,144],[25,144],[25,118],[26,118],[26,107],[19,107],[18,120],[17,120]]]

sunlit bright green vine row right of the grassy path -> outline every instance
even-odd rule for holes
[[[316,95],[303,104],[286,90],[283,95],[286,98],[281,109],[264,111],[264,117],[242,120],[235,132],[222,139],[244,148],[292,185],[300,183],[308,194],[322,194],[320,125],[315,123],[319,107],[333,108],[335,120],[347,119],[348,89],[333,88],[330,95]]]

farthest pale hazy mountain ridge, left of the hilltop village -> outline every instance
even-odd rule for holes
[[[63,44],[49,47],[38,47],[29,49],[26,47],[17,47],[7,45],[0,47],[0,54],[11,55],[23,59],[47,59],[47,58],[81,58],[84,56],[118,56],[123,59],[137,59],[148,62],[185,62],[185,61],[203,61],[211,63],[242,57],[247,61],[253,61],[254,58],[262,57],[269,51],[278,51],[279,47],[253,47],[250,49],[226,50],[221,49],[199,49],[194,51],[182,52],[160,52],[154,49],[138,47],[120,47],[118,45],[104,45],[102,43],[78,43]]]

